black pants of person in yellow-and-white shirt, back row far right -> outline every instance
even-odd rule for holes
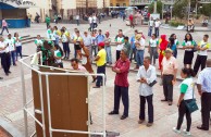
[[[207,55],[197,55],[195,66],[194,66],[195,74],[198,73],[200,66],[201,66],[201,71],[206,67],[207,58],[208,58]]]

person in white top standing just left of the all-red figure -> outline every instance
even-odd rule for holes
[[[148,52],[150,54],[150,62],[151,63],[153,60],[153,65],[156,65],[156,60],[158,59],[158,46],[159,46],[159,41],[156,37],[156,34],[152,34],[151,39],[149,40]]]

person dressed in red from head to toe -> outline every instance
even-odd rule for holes
[[[167,48],[167,40],[166,40],[166,35],[161,35],[161,42],[160,42],[160,46],[159,46],[159,70],[161,70],[161,63],[162,63],[162,60],[163,60],[163,57],[165,54],[165,50]]]

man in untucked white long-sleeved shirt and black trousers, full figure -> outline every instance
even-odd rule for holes
[[[140,83],[139,86],[139,98],[140,98],[140,112],[139,112],[139,121],[138,124],[145,122],[145,103],[147,100],[148,103],[148,123],[147,126],[152,126],[153,124],[153,91],[150,84],[156,82],[157,73],[156,67],[150,65],[150,57],[146,57],[144,59],[144,65],[141,65],[138,70],[138,74],[136,76],[136,80]]]

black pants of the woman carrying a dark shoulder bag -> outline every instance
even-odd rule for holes
[[[177,127],[176,129],[181,129],[181,126],[183,124],[183,119],[184,119],[184,115],[186,115],[186,121],[187,121],[187,128],[186,128],[186,132],[189,132],[190,130],[190,126],[191,126],[191,113],[188,111],[185,102],[190,102],[191,99],[189,100],[183,100],[178,107],[178,121],[177,121]]]

